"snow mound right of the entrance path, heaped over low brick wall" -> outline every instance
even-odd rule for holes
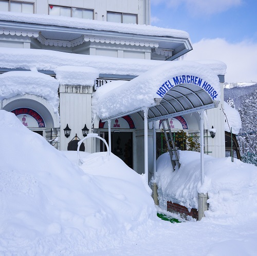
[[[256,218],[257,167],[230,157],[214,158],[204,155],[205,181],[200,182],[200,153],[179,151],[179,170],[172,172],[169,153],[156,163],[156,182],[160,207],[167,201],[198,208],[198,192],[208,192],[207,218],[219,222],[241,223]]]

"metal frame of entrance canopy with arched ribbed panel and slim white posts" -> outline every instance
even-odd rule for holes
[[[156,101],[157,102],[157,101]],[[171,88],[161,99],[151,107],[144,107],[128,110],[113,116],[102,119],[102,122],[122,117],[124,115],[138,113],[144,120],[144,173],[146,182],[148,180],[148,123],[152,122],[155,127],[155,121],[167,119],[179,115],[189,114],[193,112],[199,113],[200,119],[200,162],[201,162],[201,184],[204,183],[204,117],[203,113],[207,109],[218,106],[218,101],[213,101],[210,95],[199,86],[193,84],[184,84]],[[155,131],[155,128],[153,129]],[[111,136],[111,126],[108,126],[109,137]],[[156,134],[153,136],[154,143]],[[155,145],[155,144],[154,144]],[[155,149],[155,146],[154,146]],[[155,153],[154,153],[155,155]],[[156,159],[154,159],[154,178],[156,173]]]

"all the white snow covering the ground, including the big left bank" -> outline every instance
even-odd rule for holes
[[[210,193],[206,218],[172,224],[156,217],[144,176],[113,154],[85,153],[78,167],[14,114],[1,110],[0,120],[1,255],[256,255],[256,167],[207,157],[201,186],[197,153],[181,153],[169,176],[163,156],[158,182],[162,173],[169,186],[187,184],[177,200],[190,208],[185,196]]]

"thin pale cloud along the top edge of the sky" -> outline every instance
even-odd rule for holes
[[[166,4],[169,8],[185,5],[191,15],[221,13],[242,4],[242,0],[152,0],[153,5]]]

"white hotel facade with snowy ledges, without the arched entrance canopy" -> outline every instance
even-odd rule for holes
[[[145,26],[150,25],[149,0],[0,0],[0,10],[0,82],[8,88],[2,90],[1,109],[13,112],[59,150],[81,140],[85,125],[108,140],[107,122],[92,109],[99,87],[108,90],[133,81],[192,50],[187,32]],[[205,65],[219,79],[222,104],[225,69]],[[205,152],[224,157],[224,114],[220,108],[206,112]],[[162,126],[154,124],[159,145]],[[174,133],[199,135],[197,112],[170,117],[169,124]],[[69,136],[64,133],[67,125]],[[143,126],[137,113],[111,122],[112,152],[138,173],[144,171]],[[152,123],[148,128],[153,130]],[[152,152],[151,132],[148,137]],[[87,141],[85,151],[104,150],[101,142]],[[150,172],[152,168],[150,154]]]

